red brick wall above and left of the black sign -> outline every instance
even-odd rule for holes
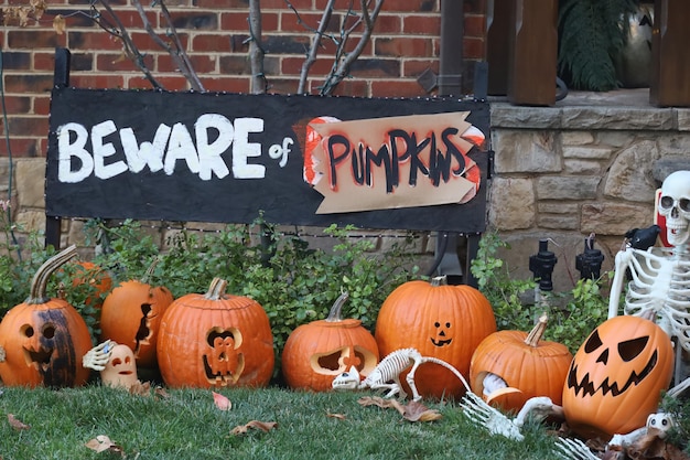
[[[29,0],[2,0],[8,6]],[[154,26],[164,24],[159,9],[149,18]],[[309,45],[310,29],[317,26],[325,0],[261,0],[262,45],[267,52],[265,73],[269,90],[295,93],[299,73]],[[337,32],[348,1],[337,1],[331,31]],[[358,3],[358,2],[355,2]],[[86,0],[46,0],[47,10],[36,23],[10,24],[0,30],[3,87],[13,158],[44,157],[46,151],[50,90],[53,84],[55,46],[72,51],[71,84],[78,87],[150,88],[134,65],[121,56],[121,44],[88,18]],[[145,53],[145,64],[171,90],[187,89],[166,52],[157,47],[141,28],[129,0],[114,0],[112,8],[133,41]],[[248,0],[169,0],[174,26],[186,46],[194,67],[207,90],[250,90],[248,61]],[[465,0],[463,53],[467,72],[463,86],[470,88],[472,62],[484,54],[484,0]],[[427,96],[417,77],[427,68],[438,73],[440,49],[440,0],[386,0],[370,43],[352,68],[337,95],[367,97]],[[53,18],[66,19],[66,31],[52,29]],[[300,20],[302,23],[300,23]],[[460,45],[460,44],[459,44]],[[334,46],[326,43],[312,67],[309,90],[316,93],[333,62]],[[3,121],[0,120],[4,132]],[[8,156],[0,142],[0,158]]]

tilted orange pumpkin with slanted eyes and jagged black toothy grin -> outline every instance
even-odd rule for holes
[[[600,324],[573,357],[563,411],[583,437],[610,438],[645,426],[673,373],[673,347],[654,322],[615,317]]]

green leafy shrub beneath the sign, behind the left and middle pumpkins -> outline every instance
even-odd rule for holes
[[[106,248],[94,261],[112,271],[114,286],[140,277],[158,258],[150,282],[165,286],[175,298],[205,292],[211,280],[220,277],[228,282],[228,293],[255,299],[271,321],[277,357],[289,334],[300,324],[326,318],[342,291],[349,292],[344,318],[359,319],[373,330],[386,297],[419,275],[411,235],[379,254],[373,252],[370,238],[351,237],[355,228],[349,226],[324,229],[336,239],[332,250],[310,248],[298,235],[281,235],[262,217],[217,233],[183,228],[163,252],[132,221],[112,228],[93,223],[89,228],[90,238]]]

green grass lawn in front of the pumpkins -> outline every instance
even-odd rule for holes
[[[553,437],[543,426],[527,427],[522,442],[490,436],[468,422],[457,404],[443,402],[424,402],[441,419],[411,422],[395,409],[360,406],[358,398],[375,395],[369,392],[223,389],[233,407],[222,411],[205,389],[166,389],[164,397],[99,384],[0,389],[1,460],[120,458],[85,447],[99,435],[120,446],[126,458],[142,460],[557,458]],[[9,414],[31,428],[13,428]],[[267,432],[230,434],[251,420],[278,426]]]

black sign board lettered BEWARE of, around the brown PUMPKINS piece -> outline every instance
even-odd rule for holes
[[[488,168],[482,146],[466,154],[479,174],[476,195],[463,204],[317,214],[324,196],[305,180],[305,136],[315,118],[354,121],[444,113],[468,113],[466,121],[488,138],[489,108],[479,101],[56,87],[46,215],[250,223],[263,212],[274,224],[481,233]],[[429,140],[406,139],[414,139],[418,150],[429,146]],[[373,168],[389,168],[380,159],[382,151],[388,152],[367,150]],[[424,180],[425,169],[418,163],[416,181]],[[436,172],[433,180],[445,180],[444,174]]]

